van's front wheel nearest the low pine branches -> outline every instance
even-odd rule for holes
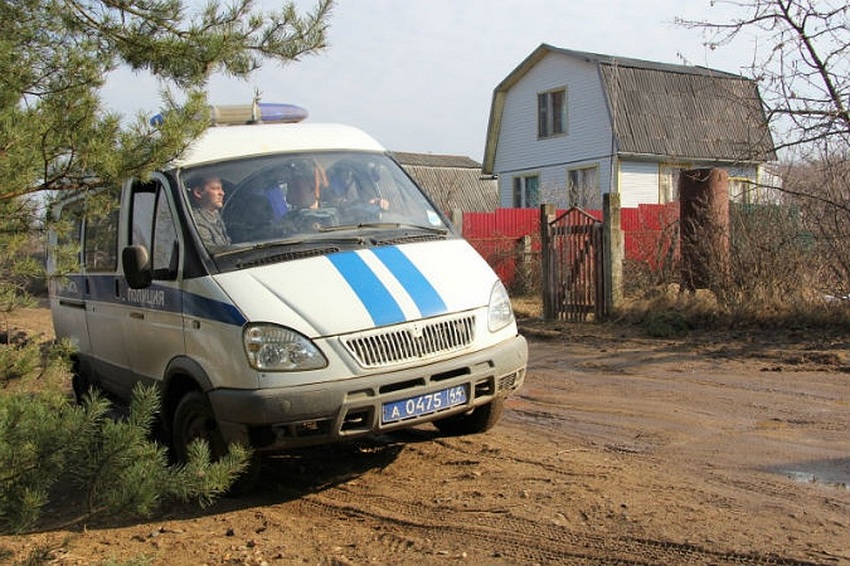
[[[184,395],[174,411],[171,447],[178,462],[188,461],[189,445],[194,440],[207,441],[213,461],[227,453],[212,407],[200,391],[190,391]]]

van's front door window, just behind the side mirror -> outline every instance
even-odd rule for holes
[[[174,217],[165,189],[156,181],[133,186],[132,245],[142,245],[151,254],[154,279],[176,279],[179,246]]]

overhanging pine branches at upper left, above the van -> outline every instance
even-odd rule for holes
[[[206,126],[211,73],[247,77],[266,60],[287,63],[323,49],[331,0],[305,16],[253,0],[198,13],[183,0],[0,2],[0,200],[145,177]],[[118,65],[162,80],[169,120],[122,126],[100,90]],[[186,101],[176,106],[178,94]]]

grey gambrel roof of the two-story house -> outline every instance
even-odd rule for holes
[[[595,64],[619,155],[730,162],[775,159],[756,83],[740,75],[541,44],[493,91],[485,172],[492,172],[505,95],[550,53]]]

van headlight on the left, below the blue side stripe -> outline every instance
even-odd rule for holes
[[[260,371],[320,369],[328,360],[313,342],[274,324],[249,324],[242,333],[248,363]]]

